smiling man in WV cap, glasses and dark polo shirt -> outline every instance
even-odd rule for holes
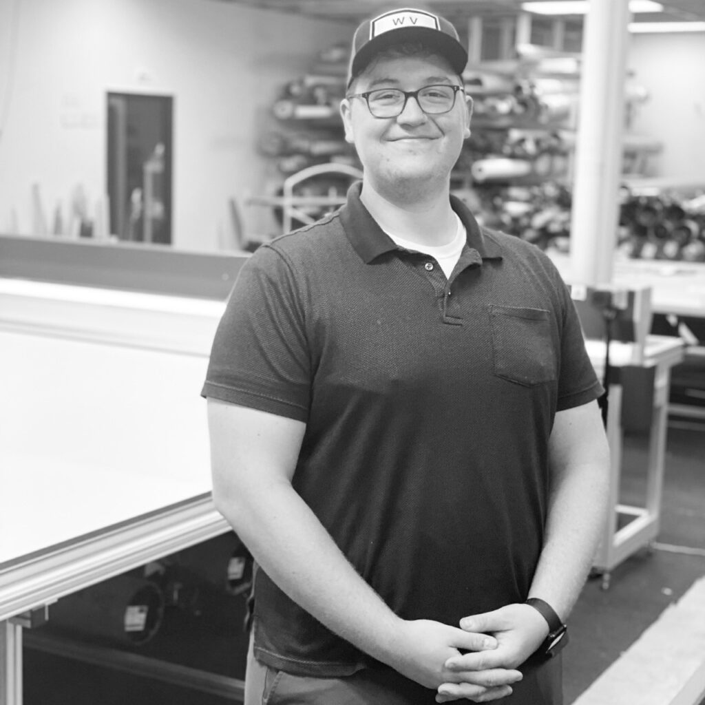
[[[466,61],[431,13],[360,25],[362,184],[257,250],[216,334],[214,499],[257,563],[247,705],[561,702],[601,388],[548,259],[450,197]]]

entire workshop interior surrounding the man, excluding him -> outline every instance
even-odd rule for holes
[[[0,3],[0,705],[243,701],[199,392],[252,252],[362,176],[338,106],[388,6]],[[704,705],[705,3],[423,6],[470,56],[451,190],[553,259],[607,391],[565,705]]]

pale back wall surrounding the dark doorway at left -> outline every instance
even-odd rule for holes
[[[1,2],[0,233],[32,231],[34,183],[49,226],[56,207],[68,219],[76,185],[92,209],[106,190],[106,92],[145,92],[174,97],[173,243],[216,249],[228,198],[276,177],[257,136],[278,90],[352,32],[218,0]],[[275,227],[266,209],[243,216],[246,231]]]

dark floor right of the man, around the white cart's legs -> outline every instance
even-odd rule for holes
[[[630,498],[637,500],[642,490],[639,461],[643,458],[642,443],[632,439],[623,471],[622,495],[627,503]],[[704,458],[705,426],[670,424],[656,548],[640,551],[615,568],[609,589],[603,590],[598,578],[584,587],[570,618],[572,648],[564,659],[567,705],[666,607],[705,576]]]

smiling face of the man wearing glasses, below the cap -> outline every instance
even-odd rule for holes
[[[355,80],[349,94],[378,88],[418,90],[434,84],[458,85],[460,79],[440,56],[381,57]],[[470,99],[458,92],[450,112],[424,113],[409,98],[396,118],[376,118],[362,98],[345,99],[341,115],[345,139],[353,142],[364,166],[365,179],[376,190],[399,188],[405,182],[448,180],[462,142],[470,135]]]

